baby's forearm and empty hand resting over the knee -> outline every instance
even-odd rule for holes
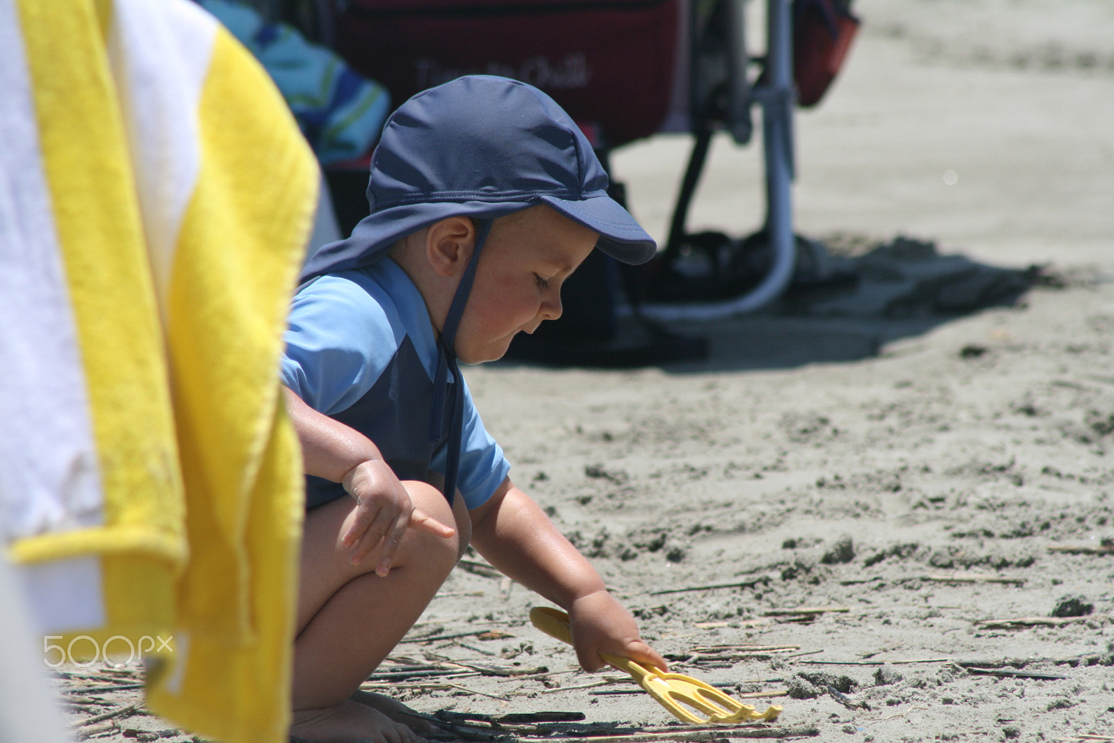
[[[375,572],[385,576],[407,528],[446,538],[456,534],[456,529],[414,508],[410,495],[371,439],[314,410],[290,388],[283,387],[283,394],[286,414],[302,443],[305,473],[342,483],[345,492],[355,498],[356,507],[344,521],[338,541],[338,548],[349,549],[353,565],[382,541]]]

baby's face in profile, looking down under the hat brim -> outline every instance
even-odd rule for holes
[[[599,236],[547,206],[497,219],[457,330],[466,364],[501,358],[520,330],[560,317],[560,286]]]

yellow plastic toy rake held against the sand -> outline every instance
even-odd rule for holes
[[[548,606],[535,606],[530,610],[530,622],[547,635],[569,645],[573,644],[573,635],[568,628],[568,614],[565,612]],[[770,706],[765,712],[759,713],[751,705],[742,704],[715,686],[692,676],[680,673],[662,673],[617,655],[602,654],[600,657],[608,665],[629,673],[658,704],[683,722],[706,725],[710,723],[753,722],[755,720],[773,721],[781,714],[780,705]],[[694,714],[693,710],[709,716],[702,717]]]

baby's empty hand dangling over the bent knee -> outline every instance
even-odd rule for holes
[[[451,537],[456,529],[414,508],[410,494],[382,459],[361,462],[344,474],[344,489],[355,498],[355,508],[341,526],[340,547],[350,549],[349,559],[359,565],[382,543],[375,574],[387,577],[408,528]]]

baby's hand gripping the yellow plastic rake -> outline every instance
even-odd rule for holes
[[[598,671],[607,664],[599,655],[618,655],[642,665],[666,670],[665,658],[638,635],[631,613],[606,591],[582,596],[568,612],[576,657],[585,671]]]

